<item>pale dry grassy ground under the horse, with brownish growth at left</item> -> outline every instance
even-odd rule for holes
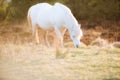
[[[27,24],[1,25],[0,80],[120,80],[120,48],[74,48],[66,40],[65,48],[55,49],[32,41]]]

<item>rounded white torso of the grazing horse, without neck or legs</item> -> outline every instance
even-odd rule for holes
[[[33,24],[38,24],[42,28],[64,26],[69,22],[71,11],[61,3],[55,3],[53,6],[48,3],[39,3],[32,6],[28,14]]]

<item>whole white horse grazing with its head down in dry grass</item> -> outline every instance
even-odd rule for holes
[[[61,3],[55,3],[53,6],[48,3],[39,3],[30,7],[28,22],[32,26],[33,34],[36,33],[36,40],[38,39],[36,26],[46,30],[46,40],[47,31],[54,29],[61,47],[63,47],[63,35],[60,29],[66,28],[74,46],[80,46],[80,38],[82,37],[81,25],[78,24],[71,10]],[[39,41],[37,40],[37,42]]]

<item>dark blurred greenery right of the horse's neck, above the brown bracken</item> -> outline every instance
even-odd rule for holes
[[[69,0],[67,4],[78,19],[120,19],[120,0]]]

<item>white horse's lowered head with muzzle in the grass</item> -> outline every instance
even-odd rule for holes
[[[82,37],[83,33],[81,30],[81,25],[78,24],[77,26],[74,26],[72,28],[72,30],[70,31],[70,37],[74,43],[75,47],[79,47],[80,46],[80,39]]]

